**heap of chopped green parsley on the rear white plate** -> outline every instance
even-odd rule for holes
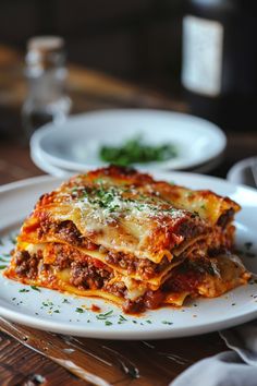
[[[125,141],[121,146],[102,146],[99,150],[101,160],[118,166],[160,162],[176,156],[174,144],[149,145],[143,142],[140,135]]]

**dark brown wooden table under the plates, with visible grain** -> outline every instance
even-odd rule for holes
[[[3,128],[2,135],[0,131],[3,184],[42,172],[33,165],[28,148],[16,141],[25,85],[21,57],[5,47],[0,47],[0,124],[4,122],[4,128],[9,128],[9,132]],[[74,65],[70,68],[69,92],[74,111],[112,107],[186,110],[183,101]],[[223,162],[212,174],[225,177],[236,160],[256,153],[257,131],[229,132]],[[227,349],[217,333],[147,342],[66,339],[3,319],[0,330],[0,385],[162,386],[195,361]]]

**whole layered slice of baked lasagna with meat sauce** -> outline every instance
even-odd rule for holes
[[[110,166],[44,194],[5,276],[110,300],[127,313],[213,298],[249,273],[232,253],[240,205]]]

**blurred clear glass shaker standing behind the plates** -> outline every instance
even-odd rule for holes
[[[65,93],[64,40],[58,36],[33,37],[25,58],[28,93],[22,107],[26,140],[45,123],[62,123],[72,101]]]

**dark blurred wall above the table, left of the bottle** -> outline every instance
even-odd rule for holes
[[[183,0],[1,0],[0,40],[60,35],[69,61],[176,92]]]

